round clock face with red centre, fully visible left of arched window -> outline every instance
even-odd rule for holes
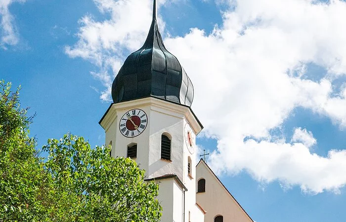
[[[147,127],[148,116],[139,109],[127,111],[120,119],[120,132],[126,137],[136,137]]]

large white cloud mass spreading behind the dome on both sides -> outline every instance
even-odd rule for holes
[[[183,37],[165,39],[194,83],[193,110],[205,126],[204,135],[218,139],[209,164],[218,173],[246,170],[264,183],[337,192],[346,184],[345,150],[318,156],[309,149],[316,143],[311,132],[298,129],[289,138],[293,144],[270,132],[282,127],[297,107],[346,127],[346,90],[333,85],[346,74],[346,2],[223,1],[235,9],[223,12],[223,24],[212,34],[193,28]],[[128,50],[144,41],[151,0],[95,2],[111,19],[84,17],[78,42],[66,52],[101,68],[95,76],[106,86],[102,98],[109,99],[114,75],[105,70],[116,74]],[[327,70],[321,80],[305,75],[311,63]]]

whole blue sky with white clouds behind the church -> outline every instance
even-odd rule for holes
[[[110,83],[150,16],[151,0],[0,2],[0,78],[22,86],[39,147],[104,143]],[[195,86],[198,146],[248,214],[345,221],[345,1],[161,0],[159,22]]]

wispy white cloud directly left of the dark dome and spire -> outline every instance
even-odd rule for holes
[[[138,49],[148,34],[151,24],[152,2],[149,0],[94,0],[101,13],[111,19],[95,21],[91,15],[80,19],[78,42],[66,46],[71,57],[81,57],[100,68],[91,74],[105,86],[100,98],[110,101],[111,86],[126,57]],[[164,3],[161,1],[161,4]],[[160,19],[160,18],[159,18]],[[160,28],[164,30],[164,23]],[[124,52],[125,51],[125,52]]]

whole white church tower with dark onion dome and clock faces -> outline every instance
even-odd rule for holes
[[[146,181],[160,182],[162,222],[204,221],[195,181],[195,139],[203,126],[191,110],[193,96],[190,78],[163,43],[154,0],[149,34],[115,77],[113,103],[99,123],[113,157],[134,159]]]

